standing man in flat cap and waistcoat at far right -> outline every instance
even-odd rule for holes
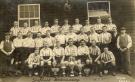
[[[121,55],[121,69],[125,71],[128,75],[130,72],[130,48],[132,47],[132,39],[129,34],[126,33],[124,27],[120,30],[120,35],[117,38],[117,48]]]

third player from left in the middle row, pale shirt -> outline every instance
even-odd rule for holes
[[[43,47],[43,38],[41,36],[41,32],[38,32],[36,38],[34,39],[35,48],[41,49]]]

